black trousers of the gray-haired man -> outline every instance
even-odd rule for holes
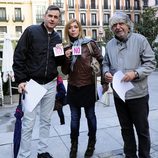
[[[139,158],[150,158],[148,100],[148,95],[143,98],[126,100],[126,102],[114,97],[115,107],[124,140],[124,153],[126,158],[138,158],[136,154],[137,145],[134,127],[138,137]]]

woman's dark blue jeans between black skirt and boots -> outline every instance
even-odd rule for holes
[[[81,107],[75,107],[70,105],[71,110],[71,139],[78,139],[80,118],[81,118]],[[95,105],[84,107],[85,115],[88,123],[88,136],[90,139],[96,138],[97,121],[95,115]]]

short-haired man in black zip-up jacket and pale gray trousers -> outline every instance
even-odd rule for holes
[[[50,5],[41,25],[31,25],[22,34],[14,53],[13,69],[19,93],[26,91],[26,82],[35,80],[47,89],[47,93],[39,102],[40,128],[38,158],[52,158],[47,150],[51,115],[54,106],[57,66],[62,64],[63,57],[55,57],[53,48],[61,44],[61,38],[54,28],[60,20],[60,9]],[[38,93],[38,92],[37,92]],[[32,130],[37,115],[37,107],[28,112],[24,110],[22,120],[22,136],[18,158],[29,158],[31,155]]]

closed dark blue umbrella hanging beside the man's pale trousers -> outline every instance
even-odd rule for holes
[[[17,158],[19,148],[20,148],[20,141],[21,141],[21,128],[22,128],[22,121],[21,118],[23,117],[24,113],[22,111],[22,102],[21,99],[24,99],[24,94],[19,95],[19,104],[15,111],[15,128],[14,128],[14,137],[13,137],[13,143],[14,143],[14,158]]]

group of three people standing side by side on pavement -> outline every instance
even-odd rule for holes
[[[88,126],[88,145],[84,157],[90,158],[93,155],[97,141],[95,115],[97,98],[95,75],[91,67],[92,56],[100,64],[103,92],[107,91],[109,84],[113,88],[113,76],[117,71],[124,73],[122,82],[131,82],[134,85],[134,88],[126,93],[125,101],[113,89],[115,108],[124,141],[124,154],[126,158],[150,158],[147,78],[154,71],[156,61],[147,39],[131,31],[132,22],[128,15],[116,12],[109,21],[113,38],[106,44],[104,57],[97,43],[93,39],[85,38],[81,23],[77,19],[71,19],[65,25],[66,45],[62,46],[62,39],[55,31],[60,21],[60,14],[57,6],[48,6],[43,23],[28,26],[15,49],[13,70],[19,93],[27,93],[26,85],[30,79],[47,89],[32,112],[23,109],[18,158],[31,156],[31,139],[37,108],[40,108],[37,158],[53,158],[47,149],[51,116],[53,110],[57,110],[60,123],[65,124],[62,111],[62,106],[65,104],[69,105],[71,112],[69,157],[77,158],[81,108],[84,108]],[[88,43],[94,54],[90,53]],[[64,53],[56,55],[58,48],[63,49]],[[61,67],[62,73],[68,76],[67,92],[59,76],[58,66]],[[54,106],[60,108],[54,109]]]

